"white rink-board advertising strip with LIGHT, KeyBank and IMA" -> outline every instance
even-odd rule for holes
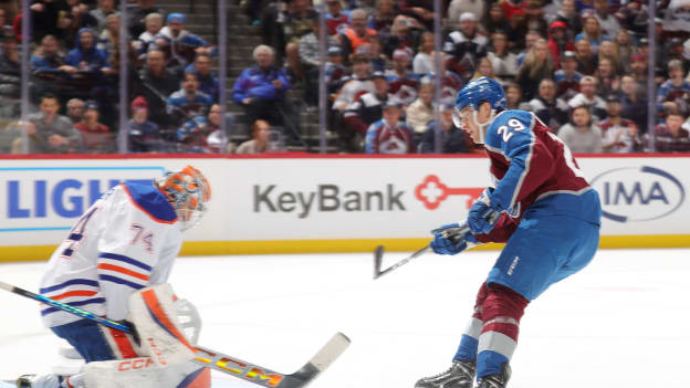
[[[690,157],[578,158],[603,234],[690,234]],[[490,183],[485,158],[0,160],[0,245],[58,244],[122,181],[192,164],[212,200],[188,241],[426,238],[462,221]]]

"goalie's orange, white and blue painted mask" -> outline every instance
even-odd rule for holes
[[[182,230],[199,223],[211,199],[211,187],[206,177],[191,166],[168,171],[156,180],[156,187],[167,198],[179,218]]]

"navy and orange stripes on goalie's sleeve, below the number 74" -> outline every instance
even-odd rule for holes
[[[96,266],[98,280],[129,286],[135,290],[148,285],[151,266],[138,260],[116,254],[101,252]]]

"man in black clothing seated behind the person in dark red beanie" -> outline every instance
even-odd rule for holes
[[[171,128],[170,116],[166,113],[167,96],[179,85],[179,78],[165,66],[163,51],[153,49],[146,54],[144,69],[133,83],[133,96],[144,96],[148,102],[148,118],[163,129]]]

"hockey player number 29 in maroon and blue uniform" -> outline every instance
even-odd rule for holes
[[[468,83],[456,118],[483,143],[494,185],[469,211],[467,223],[432,231],[431,248],[457,254],[483,242],[506,242],[481,285],[451,367],[416,388],[504,388],[527,304],[587,265],[598,245],[602,208],[567,146],[533,113],[505,111],[492,78]]]

